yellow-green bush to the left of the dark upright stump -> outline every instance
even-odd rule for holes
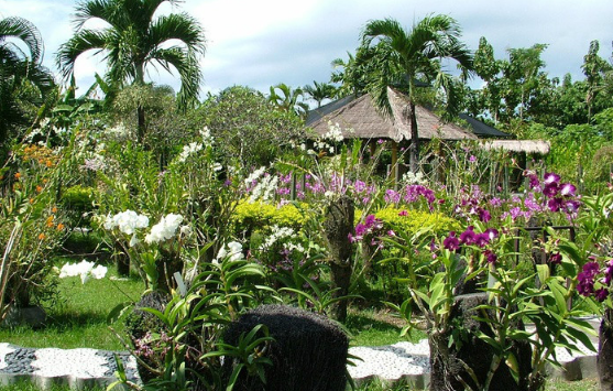
[[[243,200],[237,205],[231,222],[236,232],[252,231],[275,225],[298,230],[305,222],[305,216],[294,204],[276,207],[259,200],[254,203]]]

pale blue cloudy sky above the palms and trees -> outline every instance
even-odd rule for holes
[[[45,41],[45,65],[56,72],[55,52],[72,35],[76,3],[0,0],[0,18],[17,15],[34,23]],[[161,7],[162,13],[172,10],[168,3]],[[612,54],[611,0],[185,0],[174,10],[190,13],[205,29],[204,93],[232,85],[266,93],[278,83],[297,87],[327,82],[331,61],[347,58],[364,24],[383,18],[394,18],[408,29],[430,13],[449,14],[460,23],[471,50],[485,36],[497,58],[506,57],[507,48],[548,44],[543,58],[551,77],[570,73],[573,79],[582,78],[580,66],[592,40],[600,41],[602,57]],[[79,59],[75,73],[81,91],[95,72],[103,70],[100,56]],[[163,69],[150,69],[149,76],[178,89],[177,78]]]

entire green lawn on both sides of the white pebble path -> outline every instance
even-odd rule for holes
[[[123,350],[124,347],[106,323],[109,311],[125,301],[138,301],[144,285],[140,279],[118,281],[113,270],[102,280],[90,280],[81,284],[78,278],[63,279],[58,285],[57,302],[47,308],[47,326],[41,329],[30,327],[0,328],[0,341],[22,347],[97,348]],[[111,325],[118,333],[123,332],[121,321]],[[381,346],[399,340],[417,341],[425,338],[422,332],[413,332],[399,337],[403,322],[384,311],[351,309],[346,323],[352,335],[352,346]],[[548,382],[547,391],[596,391],[598,381],[587,379],[576,382],[555,380]],[[29,382],[0,387],[0,391],[37,391]],[[56,385],[52,391],[68,391],[67,385]],[[96,389],[95,391],[98,391]],[[408,385],[390,387],[377,381],[362,384],[359,391],[406,391]],[[101,391],[101,390],[100,390]]]

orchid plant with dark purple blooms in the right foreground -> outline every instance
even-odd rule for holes
[[[536,182],[534,187],[537,187]],[[539,213],[548,218],[563,213],[572,220],[578,207],[573,187],[560,184],[555,174],[547,174],[544,184],[545,197],[539,202]],[[401,251],[399,258],[409,265],[408,276],[402,281],[408,284],[411,297],[394,306],[409,321],[406,330],[416,326],[413,307],[419,308],[427,325],[434,362],[449,359],[444,346],[461,346],[470,333],[490,346],[493,358],[489,371],[480,379],[462,380],[467,384],[488,390],[497,369],[506,366],[517,382],[538,389],[544,381],[545,363],[556,359],[551,356],[556,346],[578,349],[581,343],[593,349],[584,334],[593,330],[585,322],[577,319],[585,314],[584,306],[577,301],[568,304],[577,280],[567,281],[566,276],[576,275],[573,271],[584,261],[570,257],[572,251],[566,241],[549,228],[550,240],[534,243],[546,251],[549,263],[536,264],[532,272],[525,270],[526,261],[518,261],[521,253],[515,249],[516,232],[522,231],[517,222],[522,220],[506,215],[502,225],[494,226],[489,213],[484,213],[491,208],[484,205],[486,199],[473,197],[459,205],[456,213],[463,214],[464,228],[458,231],[429,239],[429,229],[425,227],[413,236],[398,231],[395,237],[382,238],[386,246]],[[504,213],[502,210],[502,215]],[[430,253],[430,259],[420,256],[423,253]],[[596,271],[588,267],[585,278],[595,276]],[[535,278],[537,283],[533,283]],[[589,290],[589,284],[585,287]],[[462,295],[477,292],[485,293],[484,301],[475,308],[479,321],[486,326],[485,332],[463,329],[455,318]],[[524,322],[533,323],[535,330],[526,332]],[[522,363],[525,357],[522,358],[514,347],[516,340],[530,344],[529,371],[522,369],[526,368],[526,362]]]

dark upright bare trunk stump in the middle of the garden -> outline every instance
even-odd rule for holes
[[[330,251],[330,272],[332,289],[336,289],[333,297],[349,294],[351,282],[352,246],[349,233],[353,232],[353,200],[348,196],[330,202],[324,220],[324,230]],[[331,316],[339,321],[347,319],[347,301],[341,300],[332,305]]]

